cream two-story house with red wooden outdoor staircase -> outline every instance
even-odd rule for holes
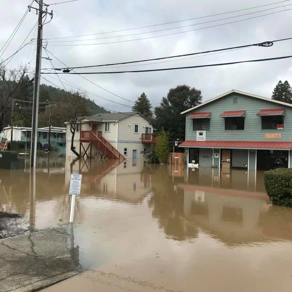
[[[70,124],[67,125],[67,157],[75,158],[71,151]],[[109,158],[140,158],[154,142],[150,120],[139,112],[95,114],[80,117],[74,135],[74,147],[87,157],[98,153]],[[86,153],[85,153],[86,152]],[[112,155],[112,156],[111,156]]]

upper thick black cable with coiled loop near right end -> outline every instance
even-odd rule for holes
[[[160,57],[160,58],[135,60],[135,61],[128,61],[128,62],[107,63],[107,64],[102,64],[102,65],[63,67],[63,68],[54,68],[54,69],[57,69],[57,70],[61,70],[61,69],[80,69],[80,68],[92,68],[92,67],[102,67],[102,66],[112,66],[112,65],[124,65],[124,64],[138,63],[138,62],[156,61],[156,60],[178,58],[178,57],[185,57],[185,56],[191,56],[191,55],[199,55],[199,54],[205,54],[205,53],[220,52],[220,51],[239,49],[239,48],[247,48],[247,47],[251,47],[251,46],[260,46],[260,47],[268,47],[269,46],[270,47],[275,42],[286,41],[286,40],[290,40],[290,39],[292,39],[292,37],[288,37],[288,38],[285,38],[285,39],[276,39],[276,40],[273,40],[273,41],[265,41],[265,42],[261,42],[261,43],[254,43],[254,44],[248,44],[248,45],[242,45],[242,46],[234,46],[234,47],[216,49],[216,50],[201,51],[201,52],[188,53],[188,54],[180,54],[180,55],[175,55],[175,56],[167,56],[167,57]],[[43,70],[50,70],[50,69],[51,68],[44,68]]]

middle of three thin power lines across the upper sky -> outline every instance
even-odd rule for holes
[[[286,6],[291,6],[292,4],[286,5]],[[284,6],[284,7],[286,7]],[[157,30],[152,30],[150,32],[137,32],[134,34],[125,34],[125,35],[121,35],[121,36],[105,36],[105,37],[100,37],[100,38],[95,38],[95,39],[80,39],[80,40],[68,40],[68,41],[51,41],[50,43],[67,43],[67,42],[73,42],[73,41],[92,41],[92,40],[100,40],[100,39],[112,39],[112,38],[117,38],[117,37],[126,37],[126,36],[136,36],[136,35],[141,35],[141,34],[150,34],[153,32],[162,32],[162,31],[166,31],[166,30],[172,30],[172,29],[178,29],[178,28],[185,28],[185,27],[190,27],[190,26],[194,26],[194,25],[201,25],[201,24],[206,24],[206,23],[211,23],[211,22],[216,22],[216,21],[221,21],[221,20],[227,20],[227,19],[232,19],[232,18],[237,18],[237,17],[241,17],[241,16],[245,16],[245,15],[250,15],[250,14],[255,14],[255,13],[260,13],[260,12],[264,12],[264,11],[269,11],[269,10],[273,10],[276,8],[283,8],[283,6],[277,6],[277,7],[273,7],[273,8],[267,8],[264,10],[260,10],[260,11],[253,11],[253,12],[249,12],[249,13],[245,13],[245,14],[241,14],[241,15],[235,15],[235,16],[230,16],[230,17],[225,17],[225,18],[221,18],[221,19],[216,19],[216,20],[208,20],[208,21],[204,21],[204,22],[199,22],[199,23],[194,23],[194,24],[189,24],[189,25],[183,25],[183,26],[177,26],[177,27],[170,27],[170,28],[164,28],[164,29],[157,29]]]

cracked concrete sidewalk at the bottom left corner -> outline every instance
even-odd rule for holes
[[[1,239],[0,291],[35,291],[78,274],[78,252],[67,248],[68,237],[55,228]]]

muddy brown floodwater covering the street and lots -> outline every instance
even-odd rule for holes
[[[89,271],[46,291],[291,291],[292,208],[267,202],[262,172],[70,162],[40,160],[35,194],[28,170],[0,170],[0,211],[32,229],[70,230],[83,173],[69,244]]]

